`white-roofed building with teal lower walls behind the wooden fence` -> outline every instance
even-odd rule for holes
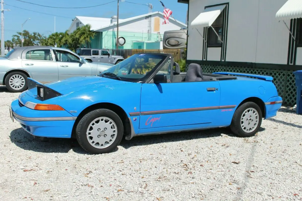
[[[127,19],[119,19],[118,37],[125,39],[120,49],[162,49],[162,36],[167,30],[179,30],[186,27],[185,23],[169,18],[169,24],[164,21],[162,12],[152,12]],[[92,40],[92,48],[115,49],[117,36],[117,17],[93,18],[76,16],[69,27],[69,33],[77,27],[90,24],[91,30],[97,32]]]

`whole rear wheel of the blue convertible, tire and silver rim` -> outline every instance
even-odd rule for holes
[[[262,123],[262,112],[254,102],[247,102],[237,108],[230,129],[239,137],[254,136]]]

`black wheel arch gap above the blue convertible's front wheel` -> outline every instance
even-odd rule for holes
[[[82,119],[82,117],[85,116],[85,114],[87,114],[88,112],[91,112],[92,110],[96,110],[96,109],[108,109],[108,110],[112,110],[113,112],[117,113],[117,115],[120,117],[120,119],[123,122],[124,135],[128,135],[131,132],[130,121],[129,121],[129,118],[128,118],[125,110],[116,104],[105,102],[105,103],[96,103],[96,104],[90,105],[90,106],[86,107],[84,110],[82,110],[82,112],[79,113],[79,115],[77,116],[76,121],[72,127],[72,134],[71,134],[72,138],[75,137],[76,126],[78,125],[78,123]]]

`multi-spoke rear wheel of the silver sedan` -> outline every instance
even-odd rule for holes
[[[23,92],[27,89],[27,75],[11,72],[5,78],[5,86],[10,92]]]

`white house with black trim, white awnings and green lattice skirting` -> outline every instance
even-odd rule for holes
[[[302,69],[302,0],[178,0],[188,4],[187,64],[206,72],[271,75],[284,103],[296,101]],[[219,36],[219,37],[218,37]]]

